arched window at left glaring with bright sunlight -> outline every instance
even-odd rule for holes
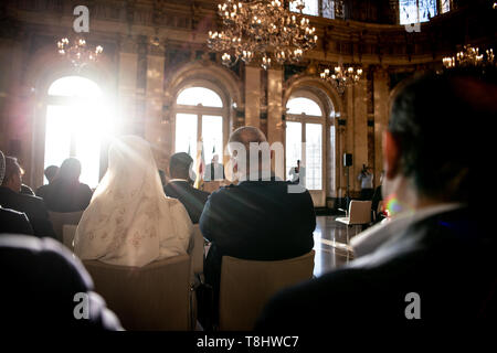
[[[70,157],[82,163],[80,180],[95,188],[99,179],[101,142],[110,128],[102,89],[82,76],[56,79],[47,90],[44,168]]]

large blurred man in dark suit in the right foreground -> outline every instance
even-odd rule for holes
[[[485,139],[478,133],[478,141],[462,141],[473,135],[468,117],[483,128],[495,119],[496,101],[490,69],[485,76],[454,69],[406,83],[383,136],[383,194],[391,223],[410,214],[411,222],[349,265],[276,295],[256,329],[341,334],[360,324],[361,331],[381,327],[390,334],[387,327],[433,329],[429,323],[437,322],[447,330],[495,322],[495,231],[483,229],[485,217],[470,212],[480,189],[469,183],[469,170]]]

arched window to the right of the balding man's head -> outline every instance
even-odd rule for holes
[[[308,190],[324,190],[325,114],[319,99],[308,92],[294,94],[286,104],[286,173],[300,160]],[[303,159],[305,143],[305,161]]]

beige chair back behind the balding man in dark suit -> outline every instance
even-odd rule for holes
[[[254,261],[223,256],[220,287],[220,330],[250,331],[278,290],[310,279],[314,254],[286,260]]]

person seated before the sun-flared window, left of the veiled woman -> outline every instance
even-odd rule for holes
[[[81,163],[75,158],[62,162],[55,179],[40,194],[49,211],[77,212],[85,210],[92,200],[92,190],[80,182]]]

